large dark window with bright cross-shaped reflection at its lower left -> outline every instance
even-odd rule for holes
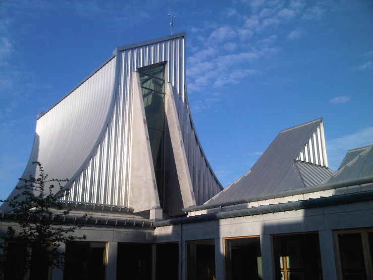
[[[273,237],[276,280],[323,279],[318,234]]]

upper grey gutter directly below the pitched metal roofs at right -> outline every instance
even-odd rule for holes
[[[314,193],[318,191],[326,191],[326,190],[332,190],[332,189],[339,189],[339,188],[344,188],[344,187],[353,186],[353,185],[366,184],[366,183],[373,183],[373,175],[369,175],[369,176],[365,176],[365,177],[361,177],[357,179],[349,179],[345,181],[326,183],[326,184],[311,186],[308,188],[283,191],[283,192],[268,194],[268,195],[254,196],[251,198],[239,199],[239,200],[230,201],[226,203],[223,202],[223,203],[191,206],[191,207],[183,208],[182,210],[184,212],[192,212],[192,211],[198,211],[198,210],[213,209],[213,208],[219,208],[220,206],[232,206],[232,205],[249,203],[249,202],[260,201],[260,200],[282,198],[282,197],[294,196],[294,195],[302,195],[302,194],[308,194],[308,193]]]

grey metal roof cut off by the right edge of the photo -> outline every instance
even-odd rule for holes
[[[360,153],[354,159],[345,164],[323,183],[333,183],[373,175],[373,145],[364,148],[360,150]]]

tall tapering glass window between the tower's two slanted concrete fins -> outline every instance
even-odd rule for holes
[[[158,63],[138,69],[158,197],[162,208],[165,189],[165,66],[166,63]]]

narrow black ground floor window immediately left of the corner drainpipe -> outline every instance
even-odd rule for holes
[[[155,245],[155,279],[179,279],[179,243]]]

